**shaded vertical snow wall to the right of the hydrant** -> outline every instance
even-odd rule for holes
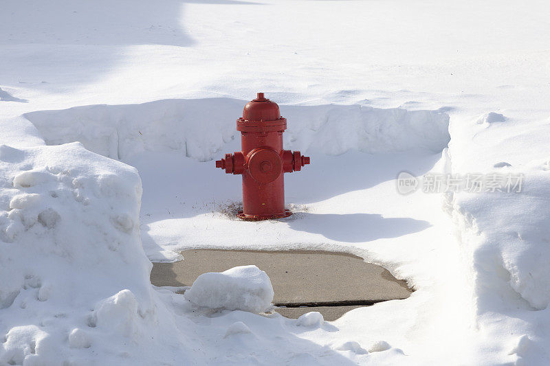
[[[289,119],[285,133],[296,150],[316,148],[327,155],[349,150],[440,152],[450,140],[449,116],[443,111],[324,105],[282,106]]]

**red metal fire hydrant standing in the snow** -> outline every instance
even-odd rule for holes
[[[245,105],[236,129],[241,131],[241,151],[225,154],[216,168],[243,176],[243,211],[237,216],[254,221],[290,216],[292,212],[285,210],[284,173],[301,170],[309,157],[283,150],[287,119],[281,117],[279,106],[258,93]]]

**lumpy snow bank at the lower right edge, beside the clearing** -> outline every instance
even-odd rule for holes
[[[486,347],[497,348],[503,362],[548,365],[550,166],[538,161],[505,170],[525,174],[522,192],[448,194],[446,205],[463,245],[474,322]],[[509,339],[494,345],[503,332]]]

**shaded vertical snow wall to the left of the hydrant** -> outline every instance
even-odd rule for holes
[[[79,106],[25,114],[48,145],[80,141],[88,150],[127,161],[142,151],[211,160],[235,133],[243,104],[230,99],[159,100],[120,106]]]

